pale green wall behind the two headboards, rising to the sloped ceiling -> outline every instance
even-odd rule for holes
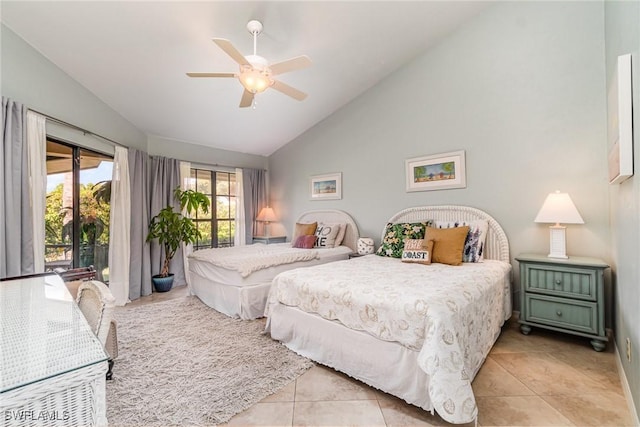
[[[405,191],[406,159],[454,150],[465,189]],[[568,254],[609,262],[606,161],[603,4],[504,2],[270,156],[271,205],[289,230],[305,210],[343,209],[377,243],[403,208],[470,205],[502,224],[513,257],[547,253],[533,219],[562,190],[586,223],[568,226]],[[331,172],[342,200],[310,201],[309,177]]]

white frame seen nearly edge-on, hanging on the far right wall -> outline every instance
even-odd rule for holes
[[[631,55],[618,56],[616,73],[609,87],[608,141],[609,184],[620,184],[633,176],[633,114]]]

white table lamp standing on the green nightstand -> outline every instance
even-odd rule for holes
[[[566,227],[563,224],[584,224],[576,205],[567,193],[556,191],[547,196],[536,216],[535,222],[551,223],[549,226],[549,258],[567,256]]]

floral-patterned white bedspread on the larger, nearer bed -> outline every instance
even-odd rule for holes
[[[500,261],[425,266],[370,255],[279,274],[265,315],[295,306],[417,351],[434,408],[466,423],[477,416],[471,381],[511,315],[510,273]]]

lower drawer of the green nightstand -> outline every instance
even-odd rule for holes
[[[528,294],[525,297],[525,321],[598,333],[598,304]]]

